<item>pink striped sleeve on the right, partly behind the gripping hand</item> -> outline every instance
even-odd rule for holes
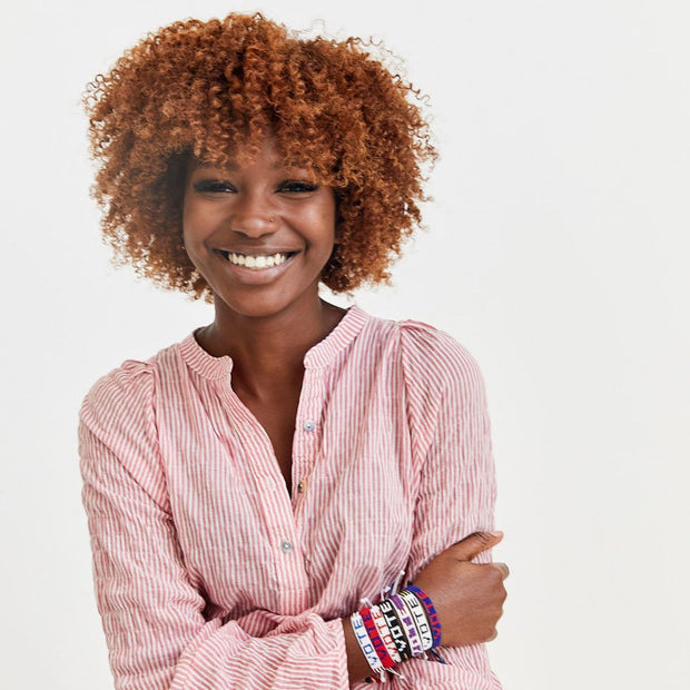
[[[403,322],[413,451],[420,463],[414,535],[406,576],[473,532],[492,530],[496,484],[484,381],[472,355],[450,335]],[[491,561],[483,552],[475,562]],[[415,688],[500,690],[485,644],[441,648],[446,664],[405,662]]]

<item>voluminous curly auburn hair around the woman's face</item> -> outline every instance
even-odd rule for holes
[[[183,244],[190,157],[226,165],[267,132],[287,165],[332,186],[339,243],[322,273],[333,292],[390,283],[421,225],[431,144],[420,92],[371,43],[299,38],[260,13],[186,20],[146,36],[87,87],[92,195],[119,263],[210,300]]]

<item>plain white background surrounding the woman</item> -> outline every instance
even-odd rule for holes
[[[431,97],[430,230],[375,315],[485,375],[506,690],[690,687],[690,13],[682,1],[120,0],[2,12],[2,688],[111,687],[80,503],[97,377],[208,323],[114,270],[80,95],[146,31],[262,9],[383,38]],[[343,303],[341,300],[341,303]]]

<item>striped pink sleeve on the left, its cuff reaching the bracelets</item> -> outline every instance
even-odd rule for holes
[[[339,620],[254,612],[223,621],[190,582],[161,471],[151,366],[128,362],[80,411],[82,503],[118,690],[348,688]],[[265,617],[264,637],[246,630]]]

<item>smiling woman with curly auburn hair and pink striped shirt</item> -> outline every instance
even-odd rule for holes
[[[90,85],[106,237],[215,306],[81,408],[116,687],[500,688],[480,371],[318,293],[386,282],[420,220],[414,93],[359,41],[260,14],[175,23]]]

